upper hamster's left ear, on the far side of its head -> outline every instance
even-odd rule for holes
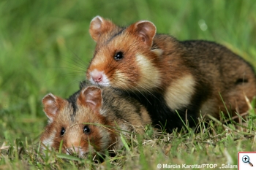
[[[110,20],[105,20],[100,16],[96,16],[91,20],[89,32],[91,34],[91,38],[94,39],[95,42],[98,42],[99,36],[104,34],[106,31],[111,30],[113,27],[116,27]]]

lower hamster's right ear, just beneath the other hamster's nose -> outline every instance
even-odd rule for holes
[[[91,109],[99,111],[102,107],[102,90],[97,86],[91,85],[81,90],[78,100],[80,100],[81,104],[86,104]]]

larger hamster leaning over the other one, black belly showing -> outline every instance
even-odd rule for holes
[[[215,42],[179,41],[156,34],[148,20],[121,27],[100,16],[89,32],[97,45],[87,80],[137,98],[153,123],[169,132],[182,127],[181,118],[192,125],[200,114],[227,116],[225,105],[231,117],[244,113],[246,98],[256,95],[252,66]]]

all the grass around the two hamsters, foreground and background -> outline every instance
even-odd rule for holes
[[[212,120],[197,134],[189,129],[143,139],[132,136],[127,149],[116,157],[93,163],[56,152],[48,157],[38,152],[39,135],[47,120],[41,99],[49,92],[67,98],[78,90],[94,52],[89,23],[96,15],[123,26],[151,20],[159,33],[216,41],[256,67],[255,9],[253,0],[0,1],[0,169],[236,165],[238,151],[256,149],[253,114],[243,128]]]

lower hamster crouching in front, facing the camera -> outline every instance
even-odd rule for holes
[[[81,85],[81,89],[63,99],[49,93],[42,98],[48,125],[40,137],[42,150],[53,148],[83,158],[89,152],[120,149],[120,134],[136,131],[151,118],[138,101],[122,96],[111,88]]]

